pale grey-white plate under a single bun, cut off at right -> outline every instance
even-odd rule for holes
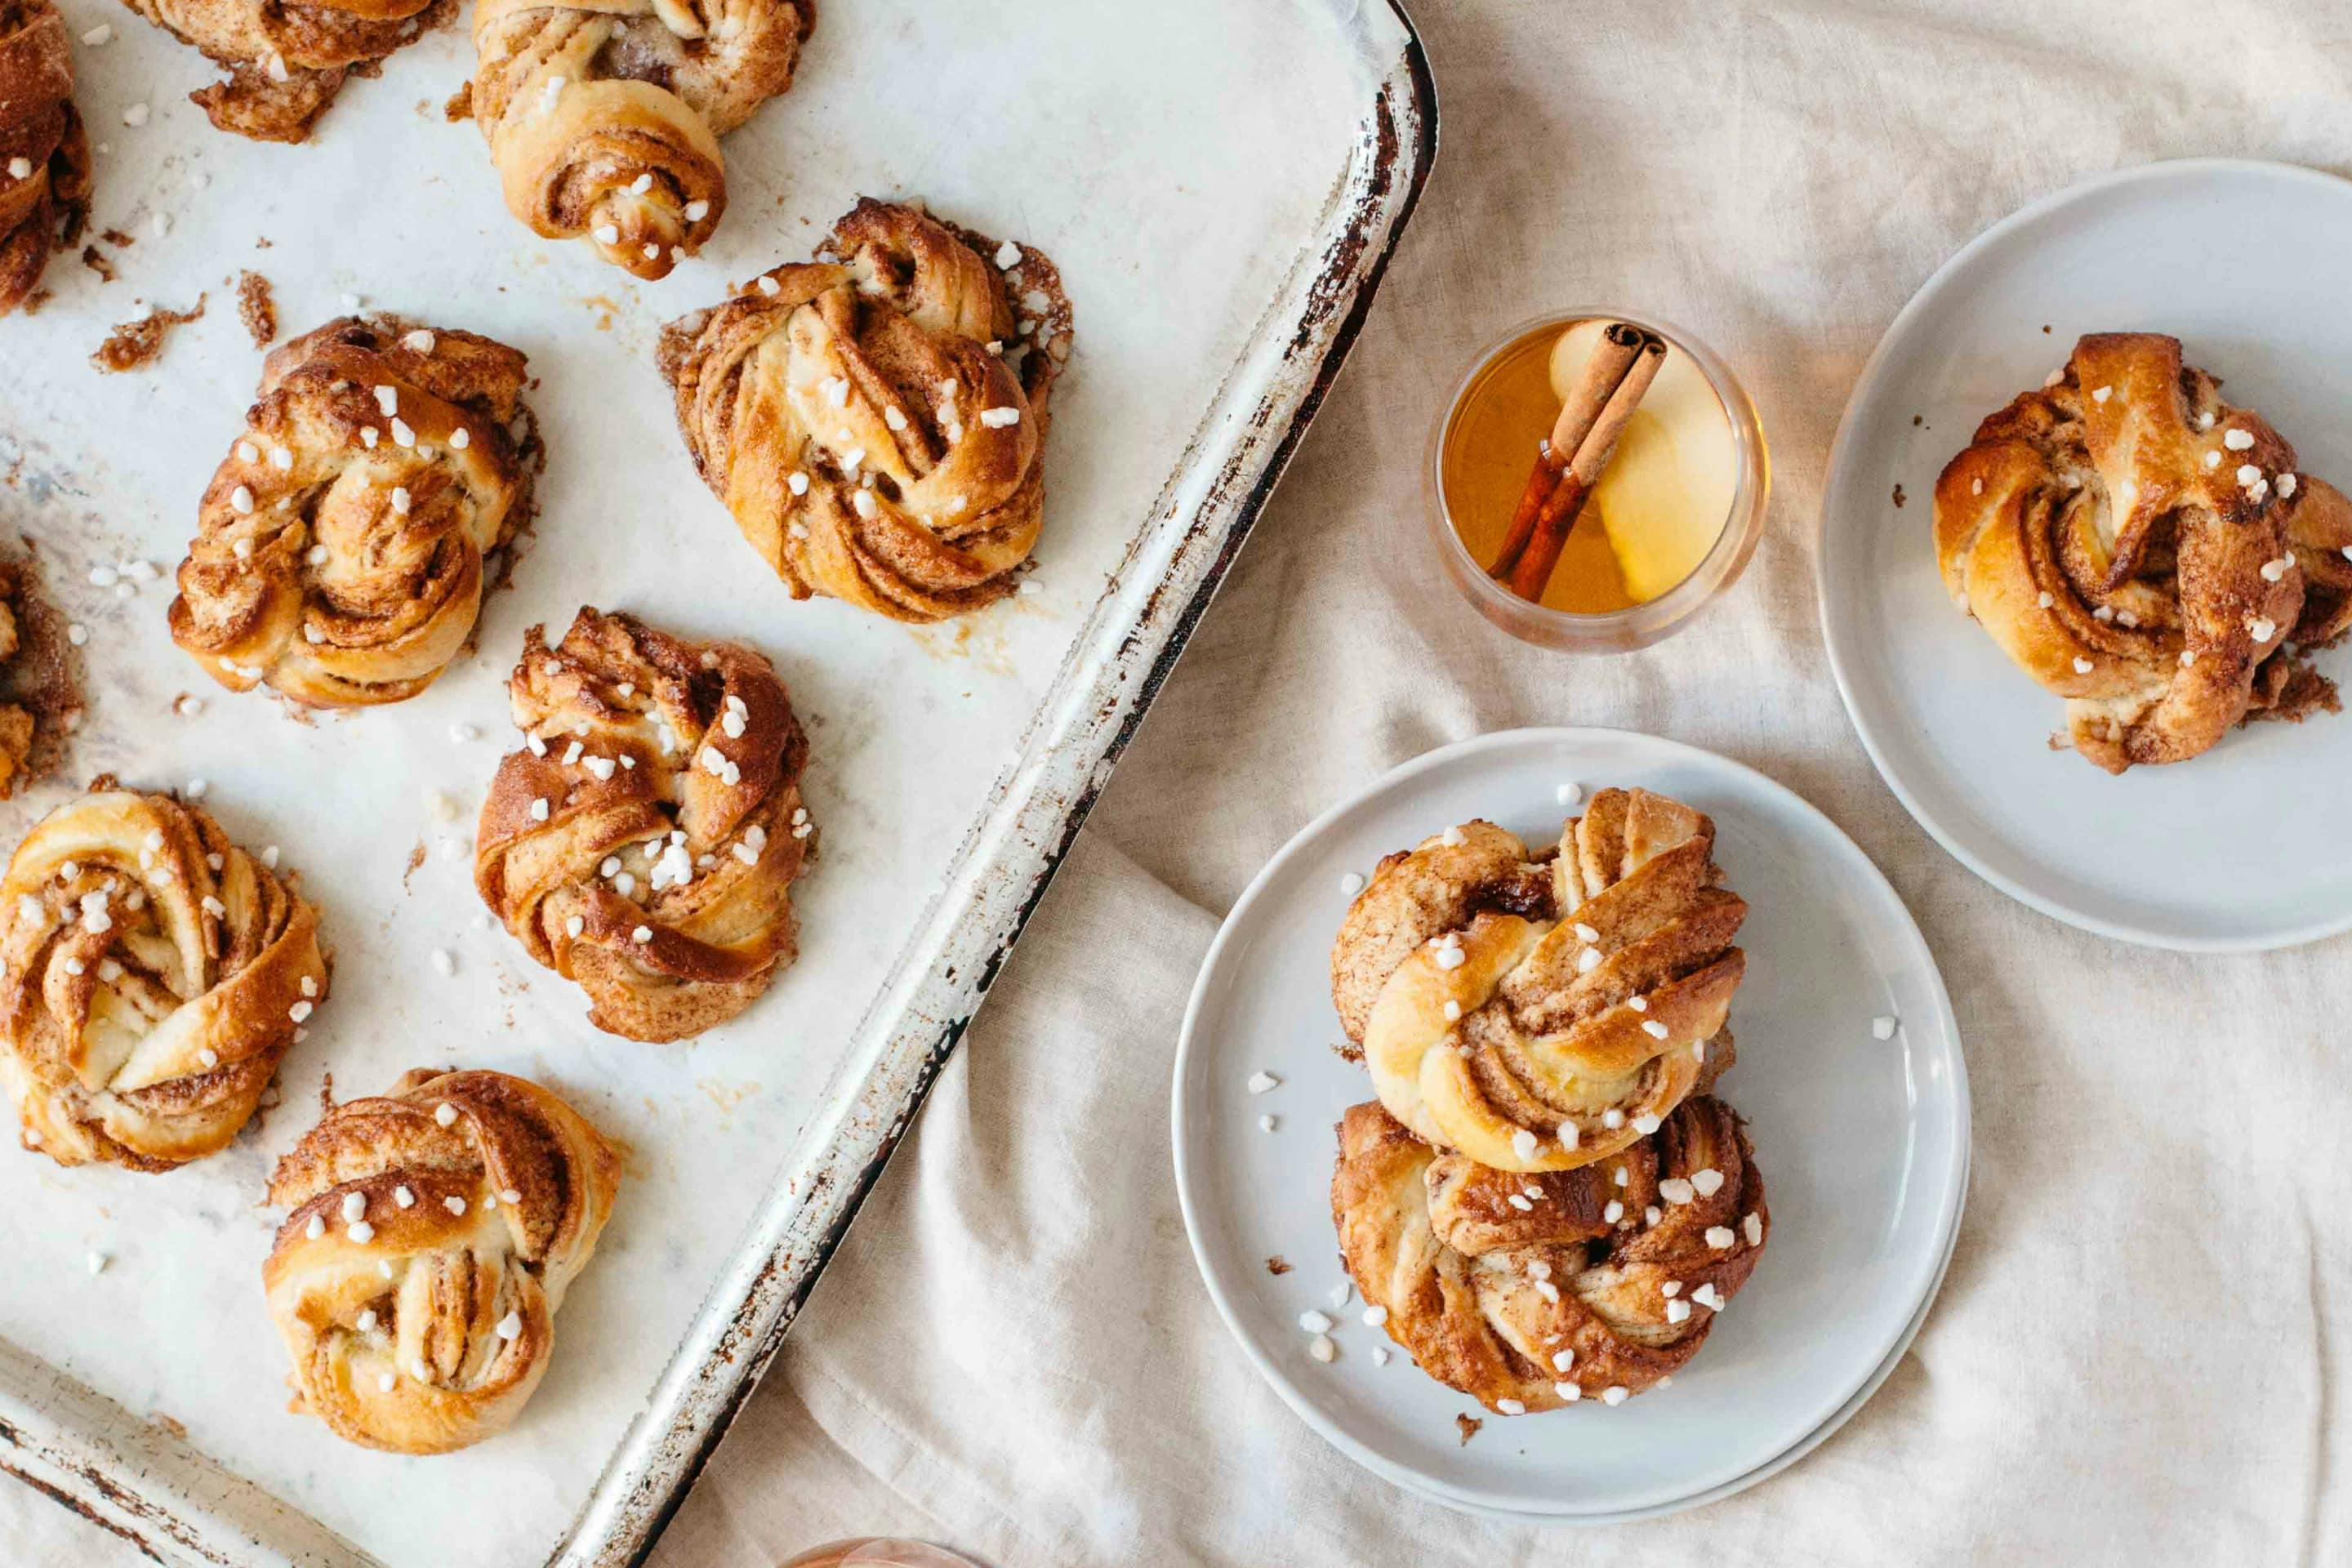
[[[2352,183],[2331,174],[2232,160],[2126,169],[1952,256],[1853,388],[1818,555],[1837,689],[1919,825],[2046,914],[2187,950],[2352,929],[2352,837],[2284,830],[2340,804],[2352,717],[2253,724],[2204,757],[2110,778],[2049,748],[2060,701],[1952,609],[1933,548],[1936,475],[2086,331],[2178,336],[2232,402],[2293,442],[2300,468],[2352,484],[2345,256]],[[2352,684],[2343,651],[2321,668]]]

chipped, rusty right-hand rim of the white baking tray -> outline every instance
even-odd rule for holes
[[[684,1502],[1044,898],[1355,346],[1437,155],[1437,87],[1421,35],[1402,5],[1388,0],[1388,9],[1404,31],[1402,49],[1334,193],[1331,221],[1317,235],[1319,256],[1301,266],[1268,313],[1289,317],[1294,329],[1270,355],[1265,390],[1240,421],[1247,435],[1228,435],[1223,461],[1216,461],[1211,430],[1228,414],[1235,393],[1228,383],[1157,508],[1174,520],[1197,496],[1190,522],[1141,534],[1096,609],[1101,623],[1136,604],[1124,616],[1117,654],[1068,670],[1042,708],[1021,766],[957,853],[934,903],[936,919],[924,922],[901,957],[910,994],[894,987],[868,1011],[861,1037],[877,1048],[854,1053],[842,1070],[844,1081],[863,1081],[802,1135],[809,1157],[795,1161],[783,1192],[755,1218],[743,1267],[713,1291],[724,1314],[713,1309],[699,1321],[708,1331],[703,1354],[689,1363],[682,1347],[550,1568],[642,1563]],[[1244,374],[1247,367],[1235,378]],[[990,846],[1002,849],[988,853]],[[967,884],[985,886],[960,898]],[[894,1023],[880,1027],[884,1018]],[[668,1425],[656,1432],[661,1413]]]

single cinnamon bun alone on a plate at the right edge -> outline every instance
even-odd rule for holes
[[[2352,623],[2345,545],[2352,503],[2152,331],[2074,343],[1936,480],[1952,602],[2065,698],[2074,750],[2110,773],[2333,708],[2288,644]]]

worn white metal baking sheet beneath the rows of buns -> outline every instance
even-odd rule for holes
[[[35,541],[92,632],[73,780],[205,778],[233,835],[301,870],[336,985],[285,1103],[200,1166],[59,1171],[0,1150],[0,1465],[167,1561],[640,1561],[1336,374],[1435,155],[1418,40],[1376,0],[835,0],[800,85],[727,141],[715,244],[640,284],[506,216],[477,132],[442,118],[470,63],[454,31],[353,82],[310,146],[275,148],[202,125],[193,52],[103,0],[64,9],[78,35],[115,26],[78,52],[80,103],[103,143],[96,228],[134,242],[108,247],[118,282],[59,259],[54,299],[0,322],[0,529]],[[943,628],[793,604],[694,480],[652,369],[663,320],[804,256],[861,193],[1042,247],[1077,315],[1037,592]],[[409,703],[301,722],[212,691],[169,644],[167,583],[89,583],[183,552],[259,371],[242,268],[273,282],[287,331],[360,296],[532,357],[550,449],[536,536],[480,651]],[[160,367],[87,367],[113,322],[200,292],[205,320]],[[470,889],[522,628],[583,602],[755,642],[811,731],[823,853],[795,889],[802,957],[682,1046],[593,1030]],[[183,691],[202,715],[174,708]],[[0,835],[71,788],[0,806]],[[454,978],[433,947],[456,952]],[[628,1147],[626,1185],[522,1420],[456,1458],[379,1455],[285,1410],[259,1199],[327,1074],[350,1095],[447,1063],[560,1086]]]

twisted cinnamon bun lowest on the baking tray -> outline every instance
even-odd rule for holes
[[[270,1175],[294,1408],[393,1453],[510,1427],[619,1187],[612,1145],[529,1079],[419,1067],[329,1107]]]

